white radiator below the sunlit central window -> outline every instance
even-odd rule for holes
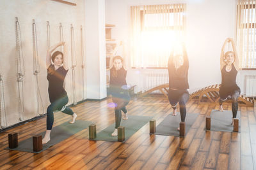
[[[143,74],[144,85],[143,90],[147,91],[157,87],[159,85],[163,85],[165,83],[169,83],[168,73],[144,73]],[[152,92],[154,94],[161,94],[159,90]]]

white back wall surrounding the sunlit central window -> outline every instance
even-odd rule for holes
[[[115,24],[112,36],[116,41],[124,41],[125,52],[122,55],[129,61],[130,6],[146,4],[187,4],[186,46],[189,57],[190,92],[202,87],[221,83],[220,52],[226,38],[236,35],[236,1],[234,0],[106,0],[106,23]],[[143,89],[141,72],[152,70],[129,69],[127,83]],[[155,69],[154,72],[167,72]],[[241,85],[239,76],[238,85]],[[243,89],[241,89],[243,90]]]

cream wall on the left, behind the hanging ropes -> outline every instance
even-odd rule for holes
[[[25,120],[36,116],[36,82],[33,75],[33,42],[32,42],[32,20],[35,19],[38,38],[38,55],[40,59],[41,73],[39,74],[40,91],[43,98],[44,110],[46,113],[49,105],[47,92],[48,81],[45,68],[45,56],[47,51],[46,22],[51,25],[51,45],[60,41],[59,24],[63,25],[64,41],[69,44],[69,64],[70,58],[70,24],[74,25],[75,45],[76,45],[76,94],[77,101],[83,99],[82,78],[81,78],[81,39],[80,25],[84,25],[84,1],[73,1],[77,6],[70,6],[56,1],[45,0],[1,0],[0,1],[0,73],[4,80],[4,96],[6,103],[6,115],[8,126],[19,121],[18,112],[18,83],[16,70],[15,51],[15,17],[19,18],[22,34],[22,46],[25,60],[24,77],[24,110]],[[71,69],[66,77],[66,90],[68,92],[69,103],[72,103]],[[85,94],[86,95],[86,94]]]

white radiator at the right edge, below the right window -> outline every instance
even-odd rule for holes
[[[256,97],[256,75],[244,76],[244,95],[246,97]]]

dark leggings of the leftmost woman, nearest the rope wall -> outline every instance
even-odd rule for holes
[[[74,112],[70,108],[65,106],[67,103],[68,103],[68,96],[65,96],[65,97],[61,97],[60,99],[54,101],[53,103],[50,104],[50,106],[48,106],[47,118],[46,118],[47,130],[52,129],[52,124],[54,122],[53,111],[59,110],[68,115],[74,114]]]

